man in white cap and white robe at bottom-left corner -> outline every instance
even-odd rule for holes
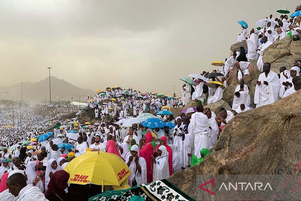
[[[11,194],[18,197],[18,201],[48,201],[38,187],[26,183],[24,173],[12,171],[8,174],[6,186]]]

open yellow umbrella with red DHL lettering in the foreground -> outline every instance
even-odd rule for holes
[[[70,184],[96,184],[119,186],[127,180],[131,171],[116,154],[86,152],[73,159],[64,168],[70,174]]]

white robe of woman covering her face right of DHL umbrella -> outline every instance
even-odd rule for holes
[[[126,163],[129,162],[129,158],[130,158],[131,154],[126,156]],[[129,185],[132,187],[132,181],[135,177],[135,180],[137,182],[137,186],[141,185],[141,184],[146,184],[147,180],[146,180],[146,162],[145,159],[142,157],[139,157],[138,159],[138,164],[141,167],[141,173],[137,170],[137,166],[135,163],[135,158],[133,158],[132,162],[129,165],[129,169],[132,172],[132,174],[129,176]]]

